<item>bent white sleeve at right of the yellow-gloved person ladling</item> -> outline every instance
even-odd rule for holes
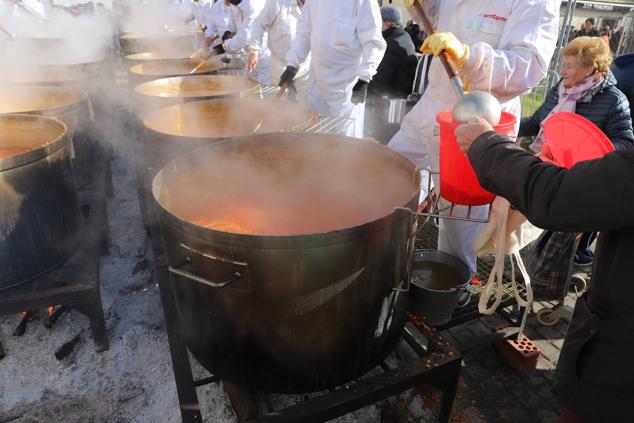
[[[500,101],[537,86],[557,43],[559,6],[558,0],[513,2],[499,47],[484,42],[469,46],[465,80],[475,89],[490,88]]]

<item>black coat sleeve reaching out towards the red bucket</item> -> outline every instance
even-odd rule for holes
[[[564,169],[490,131],[473,142],[468,157],[486,190],[541,228],[592,232],[634,226],[634,149]]]

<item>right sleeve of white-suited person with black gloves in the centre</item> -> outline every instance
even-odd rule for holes
[[[310,0],[308,3],[310,4]],[[357,38],[363,49],[357,76],[362,81],[370,82],[387,46],[381,35],[381,10],[376,0],[359,1],[356,26]]]

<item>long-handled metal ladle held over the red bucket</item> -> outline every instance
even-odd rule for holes
[[[418,15],[425,27],[425,31],[428,34],[434,34],[436,32],[431,21],[427,17],[425,10],[419,2],[420,0],[414,0],[412,7],[414,12]],[[500,122],[500,116],[502,114],[502,107],[500,102],[490,93],[486,92],[473,92],[465,94],[464,85],[456,66],[451,60],[451,56],[445,50],[440,52],[438,56],[440,62],[449,76],[451,85],[454,87],[456,94],[458,95],[458,101],[453,108],[453,118],[458,122],[467,122],[474,116],[482,117],[486,119],[491,125],[497,125]]]

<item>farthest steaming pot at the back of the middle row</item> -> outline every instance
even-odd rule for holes
[[[124,54],[194,51],[201,31],[162,31],[145,34],[125,32],[119,37]]]

